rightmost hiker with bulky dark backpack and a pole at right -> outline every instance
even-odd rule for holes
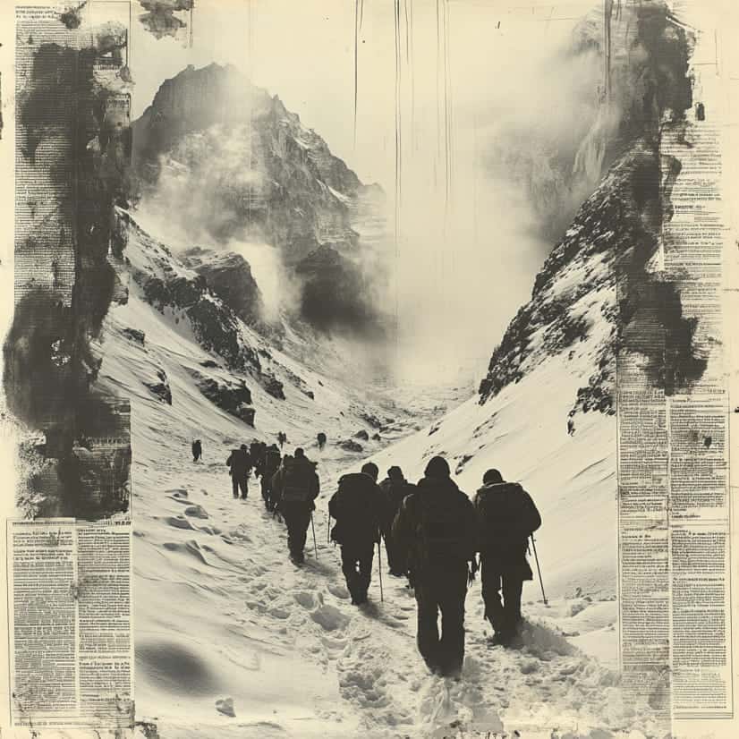
[[[497,470],[485,472],[474,506],[485,617],[495,629],[494,641],[505,646],[514,640],[522,621],[523,581],[533,579],[526,551],[531,533],[541,525],[541,516],[521,485],[505,482]]]

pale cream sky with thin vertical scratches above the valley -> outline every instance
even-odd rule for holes
[[[503,122],[549,126],[565,115],[563,77],[571,72],[558,70],[553,60],[574,25],[599,4],[439,0],[441,35],[445,7],[448,33],[447,54],[440,55],[436,0],[401,0],[402,198],[395,277],[401,319],[417,344],[414,355],[437,361],[441,340],[447,354],[472,358],[480,372],[530,296],[552,244],[533,234],[531,208],[520,193],[505,181],[489,180],[483,154]],[[234,64],[279,95],[363,182],[380,183],[392,214],[394,2],[363,5],[356,143],[353,0],[198,0],[192,47],[186,34],[157,40],[134,21],[134,115],[187,64]]]

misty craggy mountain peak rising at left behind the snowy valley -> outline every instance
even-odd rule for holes
[[[188,67],[162,84],[133,124],[133,142],[142,207],[170,218],[175,214],[182,232],[201,242],[276,247],[302,289],[300,304],[307,310],[300,318],[314,327],[356,330],[363,328],[357,320],[377,324],[370,293],[347,293],[343,285],[346,280],[361,286],[370,278],[362,267],[367,260],[358,256],[361,249],[373,249],[382,233],[382,191],[362,185],[279,98],[251,85],[232,66]],[[359,232],[366,234],[362,243]],[[315,254],[326,248],[335,268],[331,275],[341,284],[312,268]],[[225,285],[229,260],[198,269],[201,274],[208,269],[208,284],[214,281],[215,292],[256,326],[259,301],[245,297],[256,294],[251,277],[239,265],[243,284],[234,291],[232,275],[231,285]],[[313,310],[313,295],[332,286],[344,299],[327,317],[326,310]]]

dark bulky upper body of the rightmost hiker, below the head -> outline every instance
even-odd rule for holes
[[[475,495],[480,554],[502,570],[517,568],[530,580],[526,561],[529,537],[541,516],[531,496],[517,482],[483,485]]]

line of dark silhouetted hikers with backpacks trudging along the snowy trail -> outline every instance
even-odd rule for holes
[[[253,442],[234,450],[226,464],[234,497],[247,497],[251,469],[261,478],[264,504],[284,518],[290,558],[302,565],[320,492],[317,463],[300,447],[282,456],[274,444]],[[453,676],[461,672],[464,601],[480,569],[493,642],[514,645],[522,623],[523,582],[533,578],[526,557],[529,539],[541,525],[531,496],[519,483],[506,482],[491,469],[471,500],[452,480],[442,456],[429,460],[415,485],[397,466],[390,467],[379,483],[378,476],[378,466],[365,463],[361,471],[339,479],[328,501],[328,514],[335,520],[330,537],[341,547],[352,603],[367,602],[375,548],[379,554],[384,539],[390,574],[407,577],[414,592],[418,649],[432,672]]]

